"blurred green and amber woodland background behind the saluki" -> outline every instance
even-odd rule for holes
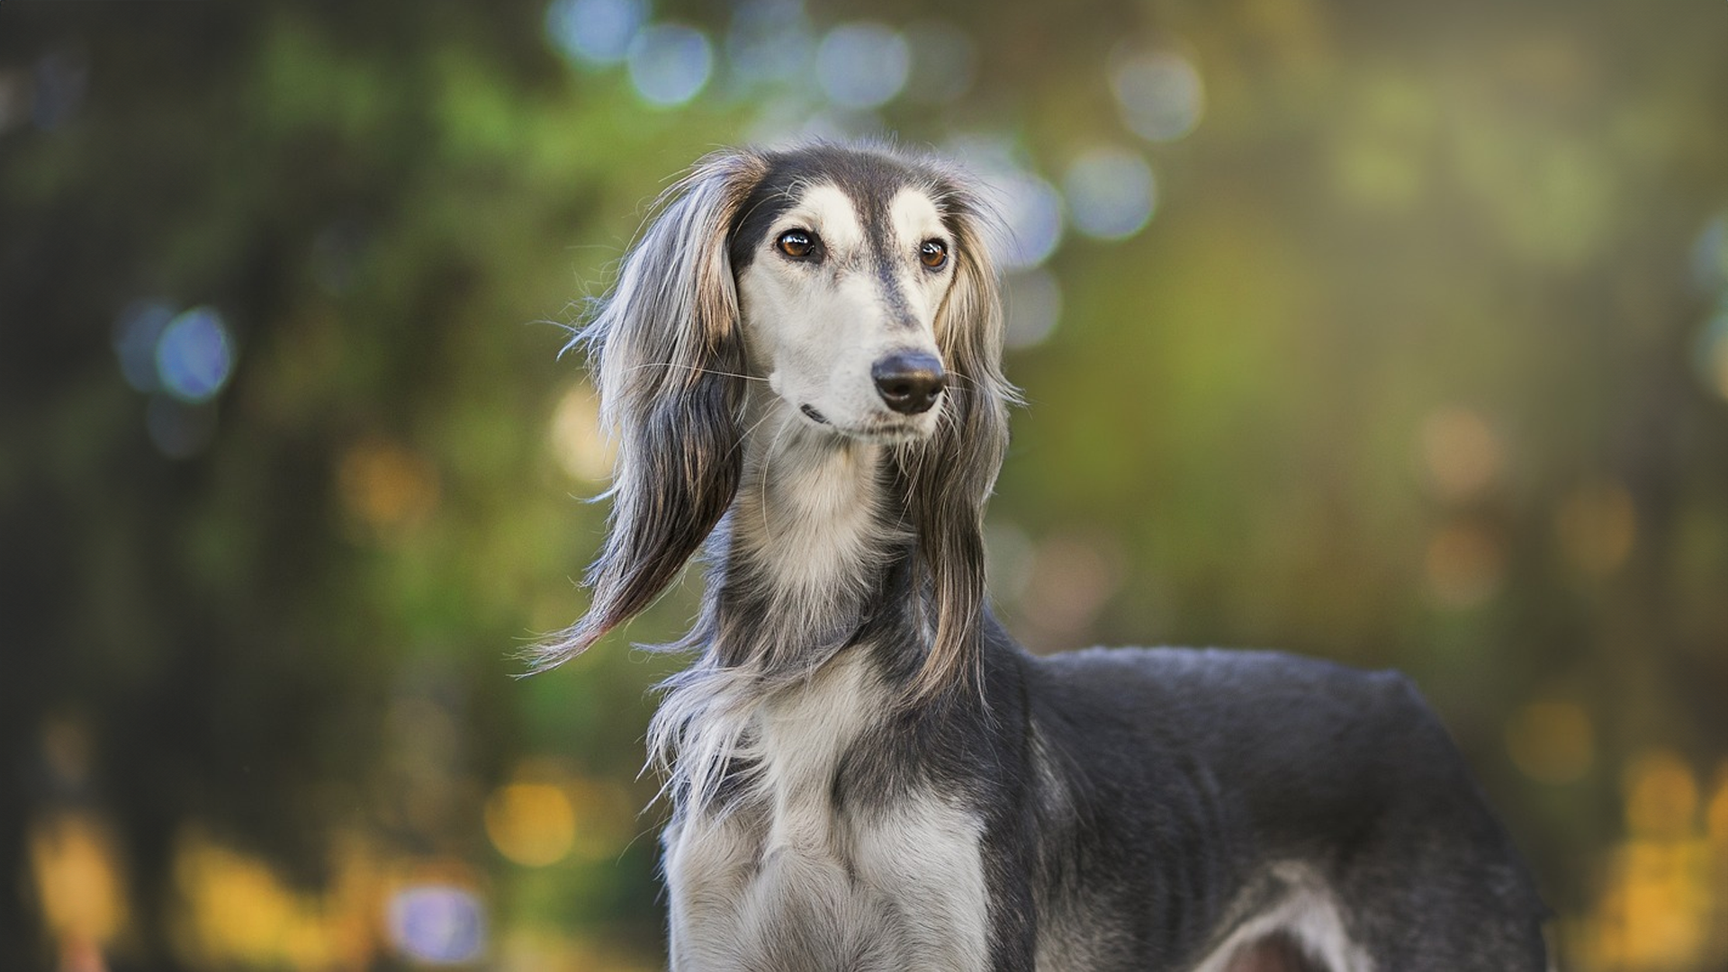
[[[1728,5],[0,5],[0,967],[655,969],[558,358],[700,154],[988,178],[995,602],[1424,688],[1578,970],[1728,969]]]

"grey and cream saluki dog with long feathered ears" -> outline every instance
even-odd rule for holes
[[[1545,908],[1394,673],[1035,657],[985,602],[1007,441],[980,190],[722,150],[572,344],[619,441],[581,652],[698,552],[648,732],[676,970],[1538,970]]]

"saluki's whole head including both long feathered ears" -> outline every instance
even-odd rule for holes
[[[890,446],[938,605],[921,683],[943,681],[978,638],[1013,398],[1001,339],[983,206],[954,169],[826,144],[705,157],[577,337],[619,441],[613,514],[589,614],[539,661],[638,614],[700,548],[738,489],[745,386],[762,379],[800,422]]]

